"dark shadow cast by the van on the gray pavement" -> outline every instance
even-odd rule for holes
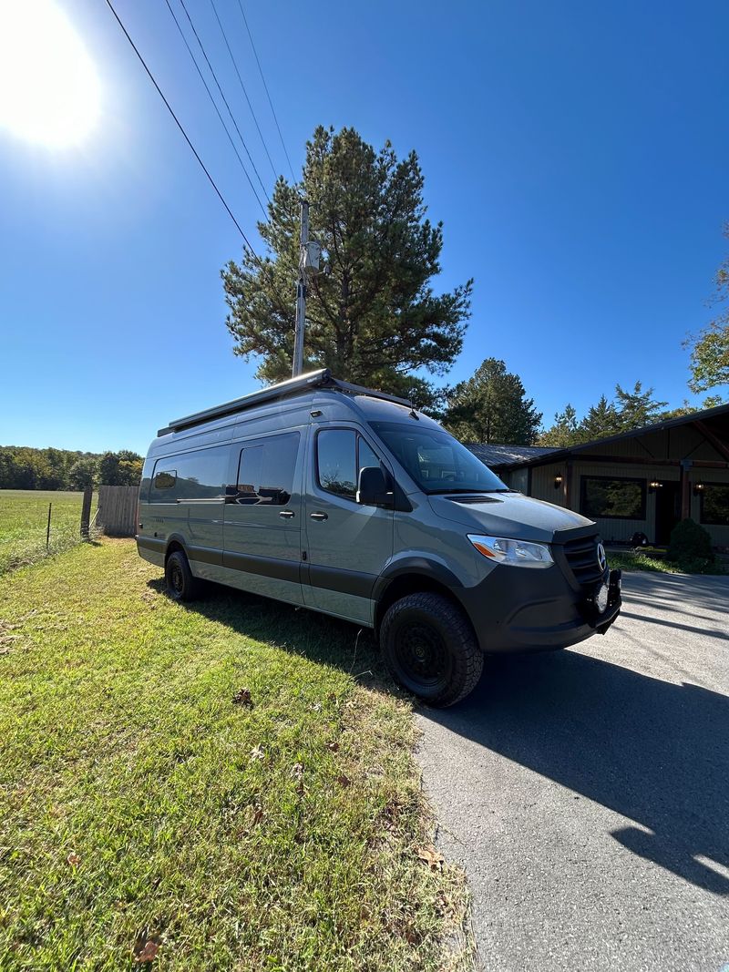
[[[612,834],[625,848],[729,894],[725,696],[566,651],[491,660],[460,706],[421,712],[631,817]]]

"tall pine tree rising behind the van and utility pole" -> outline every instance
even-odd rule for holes
[[[229,262],[222,276],[233,351],[259,362],[262,381],[291,375],[299,198],[310,203],[310,238],[323,246],[323,272],[307,296],[304,370],[327,366],[373,388],[434,402],[424,368],[444,374],[461,351],[472,281],[434,293],[441,224],[426,218],[423,174],[411,152],[379,152],[353,128],[318,127],[306,147],[303,178],[283,177],[259,224],[267,247]]]

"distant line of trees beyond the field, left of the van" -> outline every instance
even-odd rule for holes
[[[73,452],[0,446],[0,489],[83,490],[87,486],[135,486],[143,459],[136,452]]]

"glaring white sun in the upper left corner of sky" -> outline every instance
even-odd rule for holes
[[[79,145],[100,110],[94,63],[55,0],[0,0],[0,134]]]

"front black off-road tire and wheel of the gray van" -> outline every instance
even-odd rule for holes
[[[388,608],[380,648],[399,684],[431,706],[465,699],[483,671],[468,617],[440,594],[408,594]]]

